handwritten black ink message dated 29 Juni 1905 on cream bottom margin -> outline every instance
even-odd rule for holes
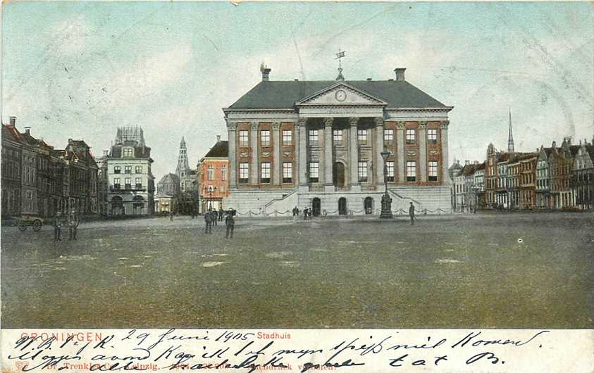
[[[543,355],[547,330],[93,330],[2,331],[4,367],[116,372],[505,372]],[[7,340],[6,337],[11,339]],[[519,361],[516,361],[519,360]],[[500,369],[494,369],[495,366]],[[421,369],[423,368],[423,369]],[[436,369],[441,371],[442,369]],[[517,371],[517,370],[512,370]]]

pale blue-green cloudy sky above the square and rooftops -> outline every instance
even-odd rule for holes
[[[450,112],[450,163],[594,135],[590,3],[20,2],[2,6],[3,122],[96,156],[139,125],[159,179],[227,137],[223,107],[261,80],[409,82]]]

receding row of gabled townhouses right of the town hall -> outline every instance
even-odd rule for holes
[[[594,139],[593,139],[594,143]],[[484,163],[450,167],[452,208],[580,208],[594,206],[594,145],[588,141],[540,146],[536,152],[487,148]]]

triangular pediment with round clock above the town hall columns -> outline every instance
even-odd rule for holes
[[[338,82],[297,101],[304,105],[378,105],[387,103],[345,82]]]

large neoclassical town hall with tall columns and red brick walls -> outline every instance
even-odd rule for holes
[[[450,208],[447,114],[452,106],[404,80],[262,81],[228,108],[230,198],[238,211],[378,213]],[[339,75],[341,78],[342,75]]]

